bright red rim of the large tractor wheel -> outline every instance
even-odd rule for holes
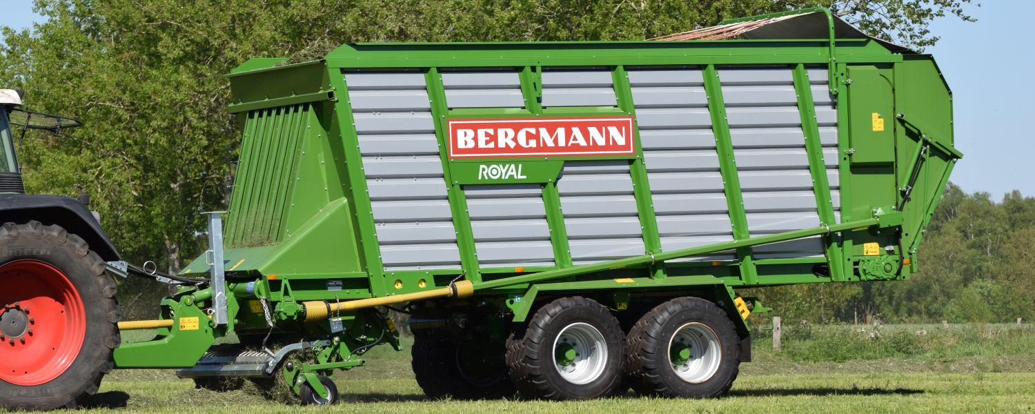
[[[76,361],[86,312],[64,273],[36,260],[0,265],[0,380],[47,383]]]

